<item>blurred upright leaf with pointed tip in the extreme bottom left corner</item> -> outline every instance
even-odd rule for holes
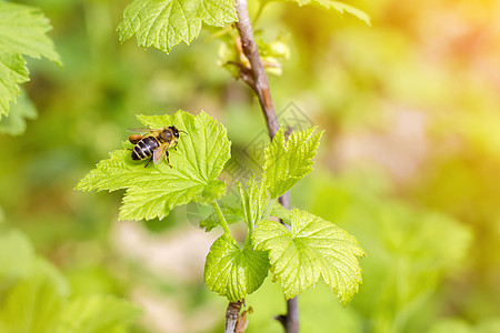
[[[63,276],[37,259],[29,276],[9,290],[0,305],[2,332],[52,333],[68,293]]]

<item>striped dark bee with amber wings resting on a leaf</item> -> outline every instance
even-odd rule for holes
[[[153,161],[154,164],[159,164],[163,157],[167,157],[167,163],[170,168],[169,160],[169,149],[173,148],[177,150],[179,133],[187,132],[178,130],[174,125],[162,128],[162,129],[150,129],[150,128],[137,128],[129,129],[132,132],[142,132],[143,134],[132,134],[129,137],[129,141],[136,147],[132,149],[132,160],[141,161],[148,158],[149,161],[146,163],[144,168]]]

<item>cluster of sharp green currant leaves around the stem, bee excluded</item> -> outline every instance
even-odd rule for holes
[[[78,190],[124,189],[120,220],[162,219],[189,202],[212,205],[218,220],[211,229],[220,225],[223,234],[207,255],[204,281],[230,302],[257,291],[269,271],[287,299],[313,286],[320,276],[343,305],[352,299],[361,283],[358,256],[364,255],[358,241],[309,212],[274,209],[278,198],[312,171],[322,132],[314,133],[316,128],[292,132],[286,141],[281,128],[266,149],[262,173],[246,185],[238,183],[239,208],[233,212],[247,225],[246,241],[239,244],[219,204],[226,184],[218,178],[230,159],[226,128],[206,112],[194,117],[179,110],[173,115],[138,119],[150,128],[173,124],[189,133],[171,150],[172,168],[167,163],[144,168],[131,160],[133,144],[123,142],[80,181]],[[272,215],[288,221],[291,233]]]

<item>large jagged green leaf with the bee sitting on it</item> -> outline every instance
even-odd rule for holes
[[[230,158],[227,130],[210,115],[197,117],[184,111],[173,115],[139,115],[154,129],[176,125],[181,133],[177,150],[169,150],[170,168],[162,162],[144,168],[144,161],[132,161],[131,144],[111,152],[110,159],[97,164],[77,185],[77,190],[127,189],[120,208],[120,220],[151,220],[167,216],[174,206],[196,201],[209,204],[224,193],[224,182],[217,180]]]

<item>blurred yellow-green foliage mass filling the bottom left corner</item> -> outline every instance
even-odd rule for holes
[[[0,248],[2,332],[127,332],[140,313],[110,295],[70,297],[67,280],[20,232],[0,235]]]

